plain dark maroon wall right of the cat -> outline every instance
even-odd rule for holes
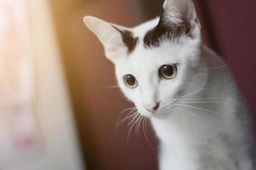
[[[204,0],[201,0],[202,2]],[[256,113],[256,1],[208,0],[205,9],[219,53],[232,68],[241,93]]]

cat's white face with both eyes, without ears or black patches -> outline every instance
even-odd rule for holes
[[[189,90],[184,83],[195,77],[199,52],[199,43],[191,40],[165,41],[155,48],[139,42],[132,54],[114,61],[119,87],[143,116],[165,116],[175,99]]]

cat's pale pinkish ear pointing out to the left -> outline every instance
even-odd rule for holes
[[[85,26],[102,42],[108,59],[113,62],[125,54],[125,44],[116,26],[92,16],[85,16],[83,20]]]

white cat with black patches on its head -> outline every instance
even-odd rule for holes
[[[126,28],[84,17],[123,93],[160,139],[160,170],[255,170],[250,117],[224,61],[201,42],[190,0]]]

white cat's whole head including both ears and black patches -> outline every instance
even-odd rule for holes
[[[177,97],[201,87],[201,26],[190,0],[166,0],[160,18],[134,28],[91,16],[84,23],[102,42],[119,87],[143,116],[168,115]]]

